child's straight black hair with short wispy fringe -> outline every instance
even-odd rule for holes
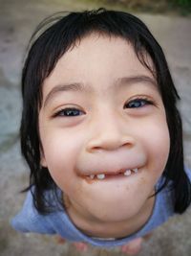
[[[170,133],[170,152],[162,174],[164,187],[172,183],[174,210],[182,213],[191,202],[191,184],[184,171],[182,127],[177,101],[180,99],[172,81],[169,68],[159,43],[138,17],[117,11],[98,9],[85,12],[59,12],[46,19],[32,35],[30,50],[22,73],[23,112],[21,120],[21,151],[30,166],[30,186],[36,209],[46,214],[53,207],[46,203],[45,191],[53,191],[56,185],[48,169],[40,165],[41,142],[38,129],[38,112],[42,104],[42,83],[53,71],[56,62],[76,41],[85,35],[120,36],[134,47],[139,61],[155,75],[159,92],[166,111]],[[152,58],[154,69],[145,59],[145,53]]]

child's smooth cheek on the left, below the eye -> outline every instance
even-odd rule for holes
[[[62,128],[56,131],[52,128],[41,128],[40,135],[44,162],[54,181],[59,185],[65,181],[71,182],[82,138],[64,132]]]

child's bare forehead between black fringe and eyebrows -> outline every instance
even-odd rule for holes
[[[152,60],[146,57],[149,66]],[[78,40],[57,61],[53,72],[44,81],[43,94],[60,84],[83,83],[89,89],[110,89],[121,78],[145,76],[152,73],[143,66],[132,44],[119,36],[91,34]]]

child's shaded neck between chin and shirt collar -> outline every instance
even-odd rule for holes
[[[148,198],[136,216],[115,222],[100,221],[88,213],[82,214],[69,199],[66,208],[74,225],[84,234],[91,237],[119,239],[137,232],[149,220],[154,204],[155,198]]]

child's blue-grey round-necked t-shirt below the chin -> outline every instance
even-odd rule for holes
[[[191,179],[191,172],[186,170],[186,173]],[[156,189],[159,188],[160,182],[161,180],[159,179]],[[173,194],[173,191],[169,190],[169,186],[159,192],[159,194],[156,196],[153,212],[149,220],[136,233],[122,239],[104,240],[85,235],[76,228],[74,223],[67,215],[64,207],[62,210],[57,209],[48,215],[40,215],[33,206],[31,192],[28,192],[21,212],[11,220],[11,226],[21,232],[58,234],[64,239],[72,242],[84,242],[101,247],[113,247],[127,244],[135,238],[148,234],[173,216],[175,214]],[[47,196],[47,198],[53,199],[51,193]]]

